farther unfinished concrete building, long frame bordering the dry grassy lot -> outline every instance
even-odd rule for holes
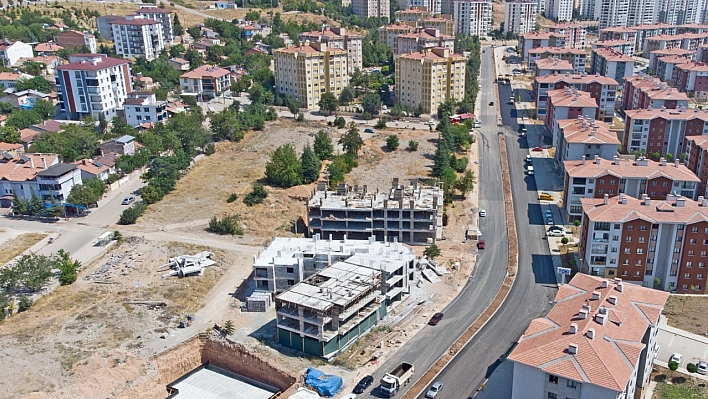
[[[389,191],[369,192],[367,186],[340,184],[328,191],[325,183],[307,202],[307,226],[310,236],[320,234],[335,239],[393,241],[410,244],[433,244],[442,238],[443,190],[412,179],[409,186],[393,179]]]

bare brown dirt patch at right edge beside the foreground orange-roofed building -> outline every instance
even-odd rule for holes
[[[670,326],[699,335],[708,332],[708,297],[671,295],[663,313]]]

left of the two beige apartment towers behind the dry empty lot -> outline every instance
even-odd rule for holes
[[[276,90],[299,99],[307,109],[316,109],[323,93],[338,97],[349,82],[346,50],[310,43],[281,48],[273,55]]]

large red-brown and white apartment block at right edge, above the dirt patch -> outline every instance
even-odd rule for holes
[[[620,276],[635,287],[706,293],[708,200],[703,196],[692,201],[670,193],[657,201],[620,194],[581,201],[583,272]]]

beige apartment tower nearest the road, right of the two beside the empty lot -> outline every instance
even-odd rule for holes
[[[448,98],[465,97],[466,59],[447,48],[396,57],[396,97],[404,107],[422,105],[426,114],[436,114]]]

